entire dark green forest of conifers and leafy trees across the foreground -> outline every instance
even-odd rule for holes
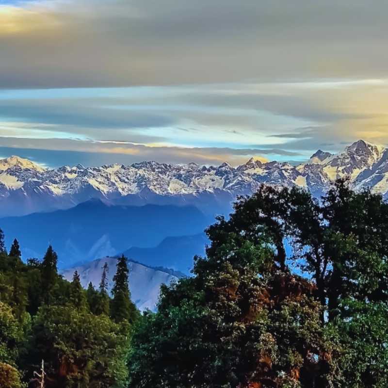
[[[0,244],[0,386],[29,382],[42,358],[45,387],[388,386],[381,195],[345,180],[320,201],[263,185],[206,232],[193,276],[162,286],[158,312],[143,316],[124,257],[110,298],[106,268],[84,291],[77,273],[57,275],[52,247],[23,264],[17,241],[9,254]]]

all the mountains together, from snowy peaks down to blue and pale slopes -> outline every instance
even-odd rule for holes
[[[155,309],[160,285],[189,274],[208,242],[203,230],[214,215],[227,215],[237,195],[267,183],[319,197],[344,177],[356,190],[371,188],[388,199],[388,149],[359,140],[339,154],[318,150],[299,165],[251,158],[238,167],[141,162],[48,169],[12,156],[0,160],[0,227],[7,246],[19,240],[23,259],[43,257],[51,243],[64,277],[77,270],[83,286],[98,286],[105,261],[111,286],[112,256],[124,253],[132,300]]]

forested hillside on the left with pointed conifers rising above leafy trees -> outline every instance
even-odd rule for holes
[[[112,298],[104,269],[96,290],[57,274],[49,246],[42,261],[20,260],[15,240],[0,239],[0,387],[125,387],[132,326],[140,313],[130,301],[126,258],[117,260]],[[26,385],[27,386],[27,385]]]

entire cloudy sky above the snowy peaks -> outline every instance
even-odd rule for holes
[[[386,0],[0,0],[0,156],[302,162],[388,146]]]

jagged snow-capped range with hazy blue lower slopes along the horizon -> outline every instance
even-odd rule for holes
[[[371,187],[387,196],[386,160],[385,147],[363,140],[337,155],[319,150],[297,166],[250,159],[237,168],[141,162],[45,169],[12,156],[0,161],[0,216],[68,209],[91,198],[108,204],[191,204],[214,214],[227,211],[236,195],[250,194],[263,182],[306,187],[319,196],[345,176],[356,188]]]

